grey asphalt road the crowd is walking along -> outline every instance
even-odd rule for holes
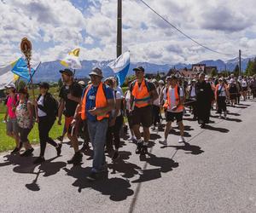
[[[81,166],[66,164],[67,143],[60,158],[48,146],[38,166],[35,157],[2,153],[0,212],[256,212],[256,101],[241,104],[229,107],[227,120],[212,112],[206,130],[185,117],[185,144],[176,128],[167,147],[159,144],[163,132],[153,133],[146,158],[125,141],[101,181],[85,179],[91,152]]]

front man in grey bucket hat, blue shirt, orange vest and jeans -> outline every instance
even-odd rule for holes
[[[109,112],[113,110],[113,91],[102,83],[102,70],[95,68],[90,72],[91,84],[83,92],[82,99],[76,109],[72,124],[79,118],[87,120],[90,142],[93,147],[93,163],[89,181],[95,181],[102,171],[108,171],[104,147],[108,130]]]

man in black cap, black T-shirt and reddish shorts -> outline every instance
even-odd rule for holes
[[[61,70],[61,78],[64,85],[61,87],[60,91],[60,107],[58,112],[58,124],[61,125],[62,113],[65,116],[65,128],[67,130],[67,137],[72,143],[74,149],[73,158],[67,161],[67,164],[79,164],[82,161],[82,153],[79,152],[79,141],[77,137],[78,126],[72,128],[70,125],[73,121],[73,116],[78,106],[83,90],[79,83],[74,82],[73,72],[69,69]]]

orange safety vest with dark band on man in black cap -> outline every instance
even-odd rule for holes
[[[148,101],[150,101],[151,97],[148,92],[145,79],[143,79],[143,82],[140,87],[138,85],[138,82],[136,81],[132,89],[131,95],[134,96],[136,107],[141,108],[141,107],[147,107],[149,105]]]

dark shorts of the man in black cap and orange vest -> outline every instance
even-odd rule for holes
[[[132,125],[140,125],[149,128],[153,124],[152,106],[135,107],[132,111]]]

